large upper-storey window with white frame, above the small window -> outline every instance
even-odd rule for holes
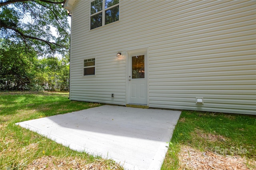
[[[118,20],[119,0],[94,0],[91,2],[91,30]]]

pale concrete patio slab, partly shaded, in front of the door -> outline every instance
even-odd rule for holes
[[[17,125],[126,170],[160,170],[180,113],[104,105]]]

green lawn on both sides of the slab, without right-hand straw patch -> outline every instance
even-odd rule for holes
[[[103,160],[70,150],[48,138],[15,125],[16,122],[100,105],[70,101],[68,93],[62,92],[1,92],[0,169],[17,170],[35,167],[37,169],[58,169],[58,167],[59,169],[81,167],[92,169],[104,166],[106,170],[121,170],[122,168],[111,160]],[[240,156],[247,161],[247,168],[256,169],[255,141],[255,116],[182,111],[162,170],[181,169],[179,155],[184,147],[225,157],[227,155]]]

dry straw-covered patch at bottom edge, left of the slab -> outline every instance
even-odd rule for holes
[[[36,159],[25,168],[26,170],[122,170],[112,160],[95,160],[88,164],[88,161],[79,158],[61,159],[54,156],[43,156]]]

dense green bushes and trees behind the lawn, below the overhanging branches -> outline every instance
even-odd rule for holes
[[[0,90],[68,90],[69,56],[40,59],[21,43],[0,41]]]

